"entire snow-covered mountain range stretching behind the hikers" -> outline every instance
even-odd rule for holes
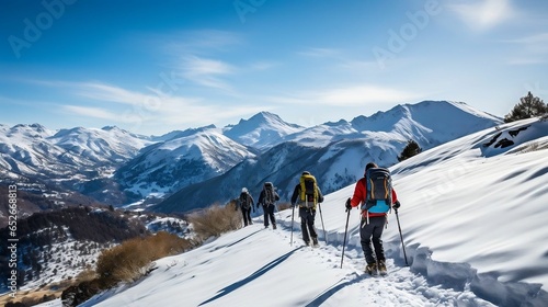
[[[0,180],[46,183],[114,206],[186,212],[226,202],[242,186],[258,194],[264,181],[287,198],[302,170],[329,193],[359,178],[370,160],[396,163],[410,139],[429,149],[500,123],[465,103],[423,101],[312,127],[261,112],[236,125],[162,136],[0,125]]]

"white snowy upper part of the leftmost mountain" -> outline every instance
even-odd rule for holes
[[[107,177],[152,141],[117,127],[54,132],[39,124],[0,129],[0,175],[42,180]]]

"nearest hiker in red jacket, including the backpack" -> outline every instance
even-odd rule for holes
[[[383,174],[386,177],[386,180],[381,182],[381,184],[376,184],[376,178],[380,178],[375,175],[375,171],[380,170],[384,172]],[[369,183],[369,189],[367,184]],[[370,185],[377,187],[370,189]],[[385,189],[386,187],[386,189]],[[383,201],[379,200],[375,192],[385,193],[383,195]],[[372,200],[377,197],[379,201]],[[388,204],[386,204],[388,201]],[[383,248],[383,229],[387,223],[387,212],[391,208],[399,208],[400,202],[398,201],[398,196],[396,195],[396,191],[391,187],[391,179],[389,171],[387,169],[379,168],[376,163],[369,162],[365,167],[364,178],[359,179],[354,189],[354,195],[352,200],[349,198],[346,201],[346,209],[352,209],[352,207],[356,207],[362,204],[362,219],[359,227],[359,237],[362,243],[362,250],[364,251],[366,266],[365,271],[372,275],[377,273],[386,274],[386,258],[385,250]],[[372,205],[374,204],[374,205]],[[380,208],[380,206],[385,206]],[[379,207],[377,207],[379,206]],[[375,254],[372,249],[375,249]]]

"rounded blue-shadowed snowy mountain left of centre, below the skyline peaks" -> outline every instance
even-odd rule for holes
[[[150,145],[116,171],[115,178],[136,198],[172,193],[225,173],[254,154],[207,126],[173,134]]]

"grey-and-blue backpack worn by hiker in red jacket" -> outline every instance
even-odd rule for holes
[[[392,178],[384,168],[370,168],[365,173],[365,202],[362,209],[387,213],[392,207]],[[364,208],[365,206],[365,208]]]

